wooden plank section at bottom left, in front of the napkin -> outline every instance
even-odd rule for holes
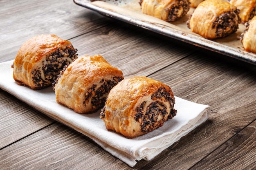
[[[88,137],[59,123],[0,150],[0,155],[6,155],[0,159],[2,170],[128,168]]]

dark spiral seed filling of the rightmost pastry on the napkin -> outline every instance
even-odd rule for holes
[[[146,113],[143,113],[146,101],[142,102],[139,107],[137,107],[137,113],[135,115],[135,120],[141,122],[141,132],[151,132],[155,129],[155,127],[163,126],[164,124],[164,117],[167,112],[167,108],[164,105],[164,102],[169,102],[171,105],[171,112],[168,115],[168,119],[172,119],[177,110],[173,108],[174,101],[173,98],[170,96],[169,93],[166,92],[164,87],[158,89],[157,93],[151,96],[151,99],[155,100],[155,102],[151,102],[147,108]],[[164,100],[161,102],[161,100]],[[162,119],[158,120],[159,115],[162,115]]]

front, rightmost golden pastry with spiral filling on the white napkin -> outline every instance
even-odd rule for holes
[[[129,77],[110,91],[100,117],[108,130],[134,138],[151,132],[177,111],[171,88],[147,77]]]

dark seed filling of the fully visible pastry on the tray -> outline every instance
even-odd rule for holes
[[[236,9],[235,11],[222,13],[219,17],[216,17],[216,20],[213,22],[213,29],[216,28],[217,38],[225,37],[237,31],[238,24],[241,21],[238,15],[239,13],[240,10]]]

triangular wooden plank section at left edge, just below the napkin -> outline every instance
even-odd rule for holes
[[[0,148],[54,122],[2,89],[0,89],[0,108]]]

